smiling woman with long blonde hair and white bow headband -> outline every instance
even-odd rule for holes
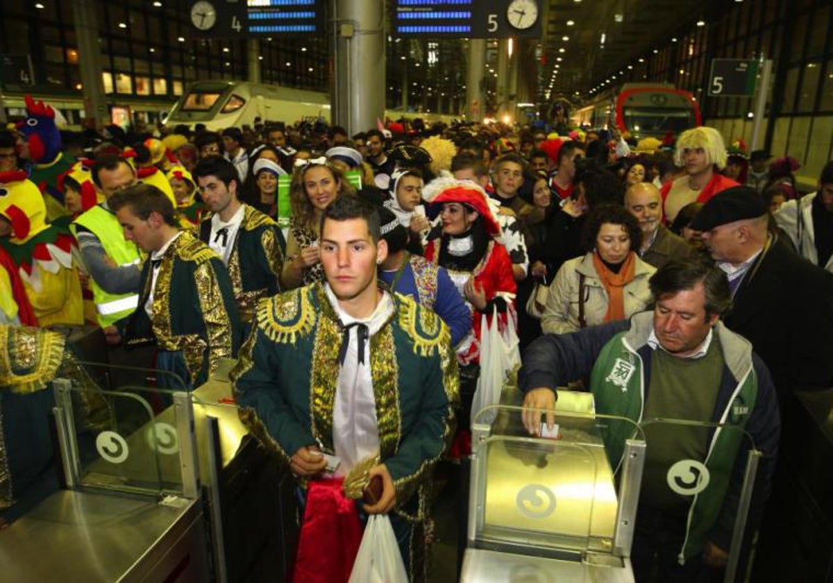
[[[341,170],[329,165],[326,158],[295,162],[289,193],[292,222],[287,238],[287,258],[281,273],[283,289],[323,281],[318,230],[324,209],[342,194],[354,196],[356,191],[344,179]]]

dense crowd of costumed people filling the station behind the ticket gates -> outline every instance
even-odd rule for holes
[[[0,132],[0,321],[100,327],[111,361],[155,346],[160,383],[187,388],[237,357],[244,421],[308,486],[307,511],[332,490],[322,452],[342,479],[364,467],[382,488],[363,510],[408,516],[394,529],[415,580],[431,467],[470,451],[491,326],[516,331],[534,434],[569,385],[637,422],[731,422],[774,459],[779,396],[833,382],[833,162],[804,194],[795,160],[711,127],[67,135],[29,106],[38,124]],[[725,565],[738,484],[716,483],[693,521],[694,502],[651,493],[682,455],[725,470],[745,452],[655,440],[676,445],[649,443],[637,581],[693,581]]]

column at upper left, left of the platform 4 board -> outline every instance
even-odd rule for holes
[[[84,95],[84,116],[96,120],[97,126],[110,122],[102,81],[101,47],[98,46],[96,2],[72,0],[75,37],[78,42],[78,68]]]

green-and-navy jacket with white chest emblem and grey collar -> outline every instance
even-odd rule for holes
[[[524,355],[521,388],[525,392],[542,386],[555,390],[570,379],[590,374],[597,413],[641,423],[645,421],[643,411],[651,385],[648,337],[652,324],[652,312],[641,312],[630,321],[542,336]],[[766,460],[759,470],[763,479],[758,487],[763,496],[756,496],[757,506],[747,519],[747,525],[756,524],[770,490],[772,461],[781,432],[775,387],[766,366],[752,352],[749,341],[722,322],[714,331],[725,364],[712,417],[701,421],[722,426],[710,431],[706,460],[702,462],[711,480],[705,490],[692,497],[681,562],[699,555],[706,541],[728,550],[751,447],[743,437],[746,434]],[[626,439],[633,436],[632,427],[624,421],[608,425],[605,446],[614,468],[621,463]]]

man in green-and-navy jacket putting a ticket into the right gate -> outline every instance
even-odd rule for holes
[[[731,306],[731,291],[719,269],[700,260],[673,260],[651,277],[650,286],[653,312],[571,334],[547,334],[530,345],[519,376],[524,425],[541,435],[542,426],[556,421],[556,387],[590,376],[596,413],[636,423],[661,418],[737,426],[751,435],[765,461],[759,468],[761,496],[755,496],[747,519],[751,536],[769,495],[781,431],[769,371],[749,341],[720,321]],[[614,469],[631,437],[615,427],[611,424],[605,436]],[[651,581],[651,573],[658,574],[656,581],[720,576],[750,447],[739,435],[685,424],[646,426],[631,550],[636,581]],[[698,471],[710,474],[711,481],[688,494],[672,491],[667,482],[679,461],[702,468]]]

